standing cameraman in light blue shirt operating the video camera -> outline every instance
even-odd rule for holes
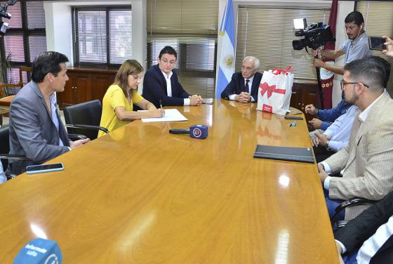
[[[345,29],[348,41],[345,42],[338,50],[335,51],[312,51],[314,57],[321,55],[324,58],[335,59],[345,54],[345,64],[352,60],[359,60],[371,56],[372,53],[368,48],[368,37],[364,32],[364,18],[358,11],[353,11],[345,18]],[[344,67],[329,65],[321,59],[314,59],[314,66],[325,68],[335,74],[344,74]]]

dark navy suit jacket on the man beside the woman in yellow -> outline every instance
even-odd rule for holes
[[[183,89],[179,83],[178,74],[172,71],[171,87],[172,96],[166,93],[166,80],[162,74],[159,65],[152,66],[147,70],[143,78],[142,97],[153,103],[157,108],[160,107],[160,100],[163,106],[166,105],[184,105],[184,98],[188,98],[189,94]]]

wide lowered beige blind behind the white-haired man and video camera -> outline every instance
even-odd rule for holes
[[[260,59],[261,72],[291,65],[295,78],[317,79],[313,57],[305,49],[293,50],[292,41],[302,39],[295,37],[293,19],[307,18],[308,25],[328,23],[328,9],[239,6],[236,70],[240,71],[244,57],[251,55]]]

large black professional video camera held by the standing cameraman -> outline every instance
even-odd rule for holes
[[[293,49],[296,51],[300,51],[302,48],[307,49],[307,47],[317,49],[321,46],[324,46],[326,42],[335,41],[335,38],[331,32],[331,26],[325,25],[323,22],[319,22],[311,24],[309,27],[307,27],[305,18],[302,21],[304,23],[304,29],[299,29],[296,31],[295,36],[304,36],[305,38],[292,41]]]

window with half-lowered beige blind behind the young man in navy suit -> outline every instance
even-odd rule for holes
[[[214,97],[217,30],[218,0],[147,0],[147,68],[172,46],[185,90]]]

